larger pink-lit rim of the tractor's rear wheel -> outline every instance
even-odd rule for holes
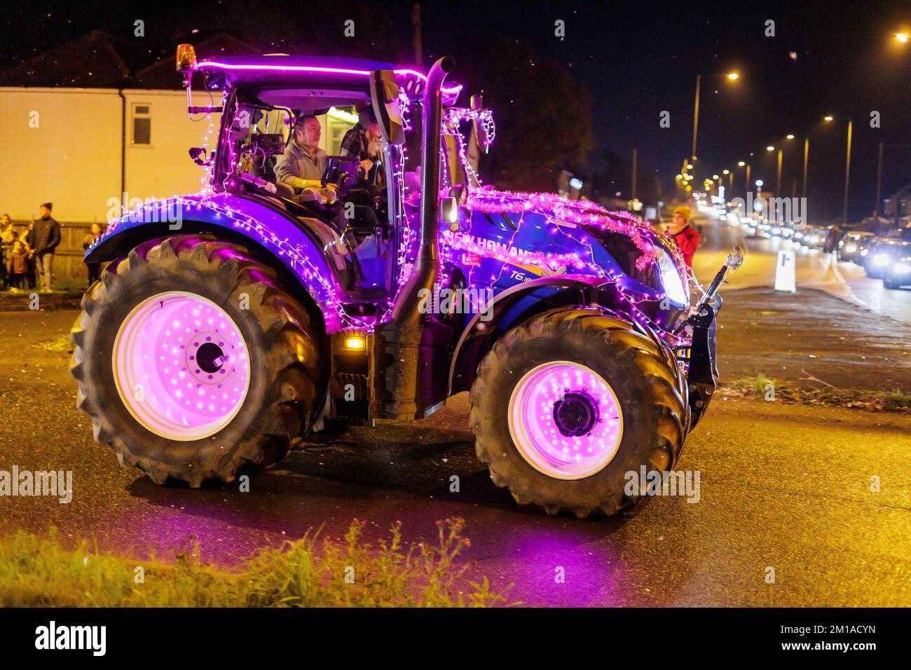
[[[163,438],[208,438],[240,411],[250,352],[237,324],[201,295],[152,295],[120,325],[114,381],[129,413]]]

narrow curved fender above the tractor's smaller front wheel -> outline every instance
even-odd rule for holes
[[[474,314],[459,337],[449,368],[449,395],[469,390],[477,366],[500,335],[532,316],[572,306],[624,312],[628,304],[616,282],[588,274],[557,274],[509,287]]]

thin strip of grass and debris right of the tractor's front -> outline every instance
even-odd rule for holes
[[[760,373],[754,377],[726,382],[722,389],[730,396],[764,400],[850,407],[873,412],[911,411],[911,396],[901,391],[873,391],[857,388],[803,387]]]

